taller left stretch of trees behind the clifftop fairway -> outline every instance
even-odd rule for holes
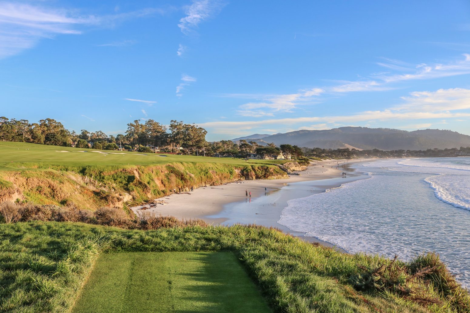
[[[208,146],[205,140],[207,131],[194,124],[185,124],[183,121],[172,120],[169,127],[148,119],[145,123],[134,120],[127,124],[125,134],[116,136],[107,135],[102,131],[89,132],[82,129],[80,133],[67,130],[63,124],[52,118],[41,119],[37,123],[30,123],[26,119],[0,117],[0,140],[20,141],[46,145],[56,145],[77,148],[114,150],[118,147],[133,149],[152,145],[172,152],[186,149],[188,153],[204,153]],[[147,151],[148,152],[148,151]]]

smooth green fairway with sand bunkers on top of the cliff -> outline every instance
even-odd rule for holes
[[[232,157],[197,157],[180,156],[155,153],[138,153],[128,151],[109,151],[95,149],[78,149],[60,146],[39,145],[24,142],[0,142],[0,170],[22,168],[34,168],[37,164],[54,164],[63,166],[89,166],[89,165],[158,165],[174,162],[198,162],[198,163],[219,163],[219,164],[283,164],[285,160],[250,160]],[[70,152],[57,152],[70,151]],[[79,152],[88,151],[88,152]],[[107,154],[92,151],[102,151]],[[47,168],[47,167],[46,167]]]

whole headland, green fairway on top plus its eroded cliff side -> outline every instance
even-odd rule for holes
[[[57,152],[62,150],[71,152]],[[168,195],[173,188],[284,177],[274,164],[286,162],[132,152],[103,155],[93,149],[79,152],[83,149],[21,142],[0,142],[0,151],[0,201],[73,203],[92,210],[121,207],[129,194],[139,203]]]

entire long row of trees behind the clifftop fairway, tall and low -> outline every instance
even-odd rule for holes
[[[194,124],[171,120],[168,126],[153,119],[144,123],[134,120],[127,124],[124,134],[108,135],[102,131],[90,132],[82,129],[80,133],[67,130],[63,124],[52,118],[41,119],[30,123],[26,119],[0,117],[0,140],[21,141],[64,147],[115,150],[120,147],[130,150],[136,148],[140,152],[151,152],[150,146],[155,146],[164,152],[181,152],[195,155],[219,155],[229,157],[246,156],[256,153],[266,158],[275,158],[279,154],[298,158],[303,155],[297,146],[274,143],[261,146],[255,141],[241,140],[239,144],[233,141],[221,140],[207,142],[207,131]]]

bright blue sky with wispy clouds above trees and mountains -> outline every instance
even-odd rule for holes
[[[0,0],[0,116],[470,134],[470,2]]]

